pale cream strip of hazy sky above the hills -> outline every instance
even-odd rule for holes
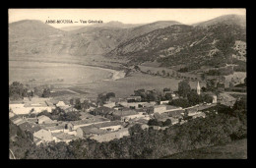
[[[177,21],[195,24],[228,14],[245,15],[245,9],[9,9],[9,23],[21,20],[101,20],[124,24],[146,24],[156,21]],[[55,28],[89,26],[90,24],[50,24]]]

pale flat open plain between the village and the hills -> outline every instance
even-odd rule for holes
[[[93,59],[95,58],[95,59]],[[123,70],[122,63],[114,60],[91,58],[21,56],[9,58],[9,83],[20,81],[24,84],[52,84],[54,88],[70,89],[78,94],[68,92],[55,93],[54,98],[69,99],[75,97],[96,97],[98,93],[115,92],[117,97],[125,97],[134,93],[135,89],[162,89],[170,87],[176,90],[181,80],[155,77],[135,72],[128,77],[112,80]],[[26,60],[26,61],[24,61]],[[111,65],[111,69],[107,69]],[[96,66],[96,67],[94,67]],[[104,69],[99,68],[104,67]],[[190,82],[196,88],[197,82]],[[200,83],[204,86],[204,83]]]

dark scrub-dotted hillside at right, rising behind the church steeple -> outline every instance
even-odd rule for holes
[[[226,18],[229,17],[222,17],[222,22],[210,22],[212,25],[207,27],[200,24],[159,28],[119,44],[106,56],[126,57],[137,63],[158,60],[163,67],[182,65],[188,71],[231,63],[233,55],[246,57],[244,49],[235,47],[237,43],[246,44],[246,31],[235,21],[224,22]]]

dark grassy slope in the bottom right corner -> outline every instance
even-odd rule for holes
[[[247,159],[247,139],[176,153],[164,159]]]

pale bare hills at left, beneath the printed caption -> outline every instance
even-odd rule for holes
[[[135,25],[110,22],[97,27],[64,31],[39,21],[26,20],[10,24],[9,51],[11,55],[101,55],[111,51],[123,41],[172,24],[173,22],[158,22],[135,27]]]

